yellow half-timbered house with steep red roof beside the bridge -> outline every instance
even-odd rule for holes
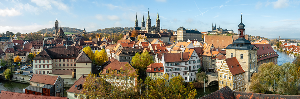
[[[245,71],[236,57],[225,59],[218,73],[219,89],[228,86],[233,91],[244,92]]]

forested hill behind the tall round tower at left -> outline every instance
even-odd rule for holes
[[[72,33],[80,33],[80,32],[83,32],[83,30],[81,29],[77,29],[77,28],[71,28],[71,27],[62,27],[63,29],[63,32],[72,32]],[[55,28],[45,28],[45,29],[41,29],[37,32],[42,32],[42,33],[55,33]],[[34,33],[37,33],[37,32],[34,32]]]

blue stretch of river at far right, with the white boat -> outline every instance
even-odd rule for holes
[[[274,48],[274,51],[277,52],[278,54],[278,58],[277,58],[278,65],[282,65],[283,63],[286,62],[293,62],[294,58],[296,58],[296,57],[290,57],[286,52],[282,52],[280,50],[277,50],[276,48]]]

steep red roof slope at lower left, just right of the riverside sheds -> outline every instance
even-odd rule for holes
[[[84,88],[81,88],[80,90],[77,90],[76,85],[83,85],[85,83],[86,76],[81,76],[66,92],[72,92],[72,93],[80,93]]]

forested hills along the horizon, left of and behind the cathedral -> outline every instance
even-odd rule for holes
[[[71,27],[62,27],[63,32],[71,32],[71,33],[80,33],[83,32],[83,30],[81,29],[77,29],[77,28],[71,28]],[[110,28],[104,28],[104,29],[98,29],[96,31],[91,31],[88,33],[107,33],[107,34],[111,34],[111,33],[127,33],[129,31],[132,31],[133,27],[110,27]],[[165,32],[176,32],[173,30],[167,30],[167,29],[163,29],[163,31]],[[55,28],[45,28],[45,29],[41,29],[37,32],[42,32],[42,33],[55,33]],[[34,33],[37,33],[34,32]]]

